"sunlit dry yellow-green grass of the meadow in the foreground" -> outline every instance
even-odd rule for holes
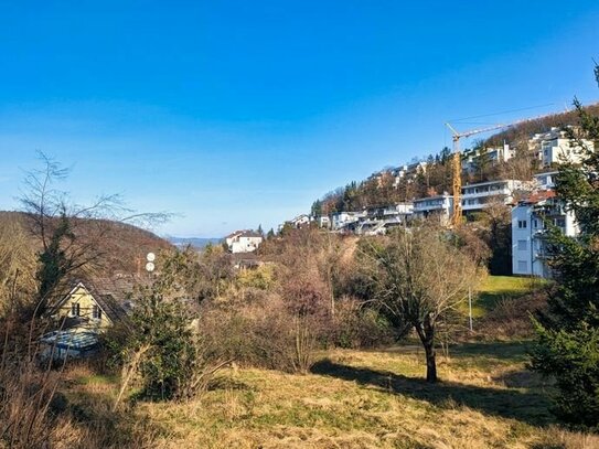
[[[201,400],[140,403],[136,413],[161,426],[157,448],[599,447],[597,436],[555,426],[549,386],[523,370],[518,343],[456,349],[436,386],[420,381],[416,348],[322,355],[310,374],[232,368]],[[92,373],[72,382],[72,394],[114,394]]]

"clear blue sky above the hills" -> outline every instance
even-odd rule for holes
[[[593,57],[597,0],[0,1],[0,209],[42,150],[159,233],[268,228],[448,119],[597,100]]]

